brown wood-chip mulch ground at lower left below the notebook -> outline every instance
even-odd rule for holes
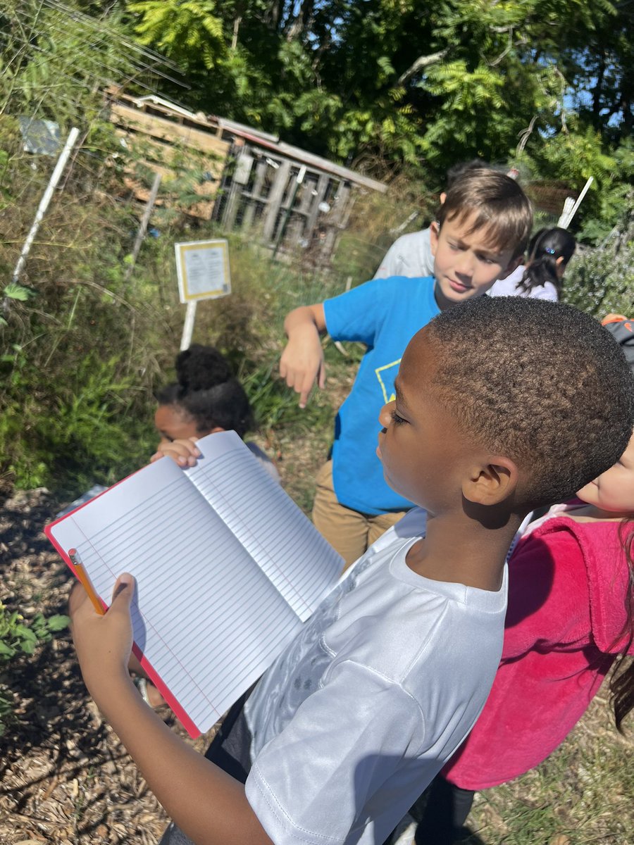
[[[66,612],[73,577],[41,533],[57,510],[46,490],[3,504],[0,601],[26,619]],[[0,684],[18,716],[0,738],[0,845],[156,845],[166,816],[90,701],[68,631],[11,662]],[[167,708],[164,717],[185,736]]]

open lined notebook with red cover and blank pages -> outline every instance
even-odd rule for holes
[[[137,580],[134,651],[184,727],[205,733],[271,664],[336,582],[342,558],[234,432],[162,458],[46,526],[77,548],[107,605]]]

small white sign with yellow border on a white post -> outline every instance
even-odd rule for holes
[[[223,238],[212,241],[175,243],[176,273],[180,301],[187,305],[181,352],[189,349],[194,333],[196,304],[200,299],[217,299],[231,293],[229,246]]]

